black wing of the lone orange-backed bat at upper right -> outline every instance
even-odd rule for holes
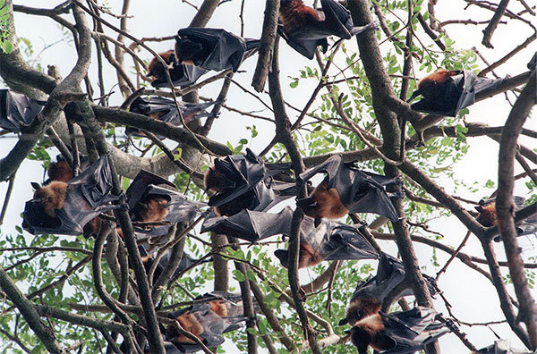
[[[478,78],[475,73],[464,71],[446,80],[444,88],[441,90],[441,97],[422,99],[411,108],[414,111],[428,114],[447,115],[455,117],[461,109],[473,105],[475,95],[485,89],[494,89],[501,85],[506,79]]]

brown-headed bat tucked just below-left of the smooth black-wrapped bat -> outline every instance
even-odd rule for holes
[[[173,49],[170,49],[165,53],[160,53],[159,55],[162,56],[162,59],[164,59],[167,64],[172,64],[172,69],[170,69],[169,72],[174,87],[192,85],[200,79],[201,75],[208,72],[196,65],[177,63]],[[157,57],[151,59],[151,62],[148,65],[148,70],[149,76],[155,78],[151,81],[152,87],[167,88],[169,86],[166,79],[166,70],[162,63],[158,61]]]

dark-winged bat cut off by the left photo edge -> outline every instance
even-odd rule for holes
[[[30,125],[45,104],[19,92],[0,89],[0,127],[14,133],[21,132],[21,126]]]

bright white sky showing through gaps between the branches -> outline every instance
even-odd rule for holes
[[[56,4],[60,4],[59,1],[49,0],[25,0],[15,1],[16,4],[25,4],[34,7],[47,7],[52,8]],[[112,6],[115,13],[119,13],[121,9],[121,2],[117,0],[109,0],[108,3]],[[192,0],[194,4],[200,4],[200,0]],[[307,2],[308,4],[311,2]],[[150,5],[148,5],[150,4]],[[232,1],[230,3],[222,4],[215,15],[209,21],[208,27],[223,28],[231,31],[235,34],[240,34],[240,20],[238,17],[240,9],[240,1]],[[515,12],[520,10],[520,4],[518,2],[511,2],[509,8],[513,8]],[[259,38],[261,32],[262,16],[264,10],[264,2],[261,1],[247,1],[245,2],[244,9],[244,37]],[[194,11],[193,9],[183,4],[179,0],[175,1],[163,1],[152,0],[150,2],[144,1],[132,1],[131,11],[133,18],[129,21],[130,33],[137,37],[160,37],[169,36],[175,34],[176,30],[186,27],[192,19]],[[465,2],[463,1],[443,1],[439,2],[437,6],[437,14],[440,20],[447,19],[460,19],[467,20],[472,19],[475,21],[489,20],[492,13],[485,10],[479,10],[477,7],[470,7],[465,10]],[[115,22],[115,19],[109,16],[104,16],[107,21]],[[71,18],[70,18],[71,20]],[[89,19],[90,20],[90,19]],[[35,53],[39,53],[47,44],[55,43],[62,38],[58,26],[55,22],[36,16],[16,14],[15,24],[17,27],[18,35],[23,38],[29,38],[34,46]],[[510,21],[512,22],[512,21]],[[497,47],[497,50],[486,49],[481,45],[482,30],[484,25],[481,26],[463,26],[463,25],[449,25],[446,30],[451,38],[456,40],[456,48],[463,50],[476,46],[483,55],[489,60],[490,63],[497,61],[501,56],[505,55],[515,46],[518,46],[524,41],[525,38],[531,35],[526,27],[519,26],[513,23],[509,25],[499,25],[498,30],[494,33],[492,38],[492,44]],[[108,32],[115,37],[115,34]],[[427,40],[426,36],[421,36],[422,40]],[[128,42],[130,43],[130,42]],[[150,43],[153,49],[158,52],[166,51],[173,46],[172,41],[164,43]],[[354,48],[357,51],[354,41],[349,40],[345,42],[347,48]],[[496,72],[499,76],[511,75],[514,76],[518,73],[525,72],[525,64],[530,60],[533,55],[533,50],[526,49],[520,54],[516,55],[507,64],[502,65]],[[391,49],[391,45],[385,43],[381,46],[383,51]],[[393,51],[392,51],[393,52]],[[51,48],[43,51],[39,55],[39,62],[47,67],[47,64],[56,64],[59,66],[60,71],[64,76],[71,70],[76,58],[73,55],[73,47],[70,43],[60,42]],[[141,57],[150,59],[149,53],[141,53]],[[126,63],[131,65],[132,62],[128,56],[125,56]],[[237,73],[234,76],[234,80],[242,83],[242,85],[248,89],[251,89],[251,75],[255,67],[257,56],[251,57],[241,66],[242,73]],[[288,76],[299,77],[299,70],[304,65],[309,65],[312,68],[317,67],[315,61],[308,61],[302,55],[294,52],[285,41],[280,42],[280,70],[282,89],[284,97],[289,102],[292,102],[295,106],[302,109],[309,97],[311,91],[314,89],[316,82],[314,80],[301,80],[297,89],[290,89],[290,79]],[[486,65],[482,64],[480,67],[484,68]],[[415,65],[418,67],[419,65]],[[131,72],[131,71],[130,71]],[[210,73],[209,73],[210,75]],[[206,75],[205,77],[209,77]],[[422,77],[422,74],[418,74],[418,77]],[[489,75],[490,76],[490,75]],[[90,78],[96,78],[96,60],[91,65]],[[205,78],[204,77],[204,78]],[[115,72],[107,65],[105,78],[108,82],[107,90],[110,89],[110,82],[115,81]],[[96,80],[92,80],[95,85]],[[204,97],[217,97],[221,86],[221,81],[212,83],[207,87],[200,90],[200,95]],[[117,92],[117,88],[114,88]],[[252,89],[251,89],[252,90]],[[98,96],[98,94],[96,94]],[[513,96],[510,96],[513,100]],[[261,98],[269,103],[267,95],[261,96]],[[514,100],[513,100],[514,102]],[[113,96],[112,104],[118,105],[121,103],[121,97],[118,94]],[[227,105],[237,107],[243,111],[259,111],[264,107],[260,105],[251,96],[246,95],[243,91],[237,88],[235,85],[231,86],[227,101]],[[315,105],[313,105],[315,106]],[[486,101],[482,101],[470,107],[470,114],[466,116],[467,122],[485,122],[491,126],[502,125],[507,119],[507,115],[510,111],[510,106],[502,95],[494,97]],[[260,115],[271,117],[268,110],[264,110]],[[292,122],[296,118],[294,111],[288,110],[288,114]],[[271,117],[272,118],[272,117]],[[270,122],[261,120],[253,120],[248,116],[240,116],[238,114],[230,114],[225,109],[222,110],[220,117],[217,119],[213,126],[209,137],[216,139],[217,141],[226,142],[230,141],[232,144],[236,144],[239,139],[247,138],[250,140],[251,133],[245,129],[246,125],[255,124],[257,130],[260,131],[260,137],[256,138],[251,143],[251,148],[254,152],[259,152],[261,148],[265,147],[267,143],[272,139],[274,133],[274,126]],[[526,123],[528,128],[535,130],[535,120],[530,119]],[[498,166],[498,144],[488,138],[469,138],[471,148],[467,156],[459,164],[455,166],[456,178],[464,178],[466,181],[478,181],[478,185],[482,185],[487,180],[497,181],[497,166]],[[534,140],[524,139],[526,146],[535,147]],[[0,157],[5,156],[11,147],[13,147],[15,139],[0,139]],[[533,145],[532,145],[533,144]],[[51,156],[54,156],[51,154]],[[518,168],[518,167],[517,167]],[[30,189],[30,181],[42,181],[43,170],[39,163],[32,161],[25,161],[21,165],[20,171],[17,173],[17,180],[15,183],[15,190],[13,198],[10,202],[10,208],[4,225],[2,225],[2,232],[9,233],[14,232],[14,225],[21,224],[20,213],[24,207],[26,200],[32,196],[32,190]],[[453,188],[451,181],[441,181],[446,185],[446,189],[449,191]],[[4,198],[4,193],[7,188],[7,183],[0,183],[0,196]],[[522,183],[517,185],[517,190],[520,193],[524,193],[524,186]],[[458,190],[457,193],[462,197],[478,200],[490,193],[486,190],[483,195],[473,195],[467,190]],[[467,206],[470,207],[470,206]],[[443,219],[430,224],[431,229],[442,232],[447,240],[443,242],[456,247],[465,236],[465,228],[461,223],[456,221],[456,218],[451,217],[449,220]],[[537,255],[535,250],[535,238],[524,237],[519,239],[523,248],[523,255],[525,258],[534,257]],[[381,246],[388,251],[388,253],[395,255],[396,248],[393,242],[380,241]],[[429,265],[431,256],[430,247],[422,246],[421,244],[414,244],[416,253],[422,262],[423,266],[427,266],[426,273],[436,274],[438,269]],[[505,259],[505,252],[501,244],[496,245],[496,252],[500,259]],[[477,238],[472,236],[468,241],[464,252],[472,254],[478,257],[482,257],[482,248]],[[440,265],[443,265],[446,260],[446,254],[438,251]],[[488,271],[488,268],[485,267]],[[506,274],[507,269],[502,268],[502,273]],[[302,274],[304,275],[304,274]],[[303,276],[303,282],[307,282],[307,276]],[[504,318],[499,309],[499,300],[495,289],[490,282],[486,280],[482,275],[469,270],[468,267],[463,265],[458,260],[455,260],[447,272],[441,276],[439,281],[439,287],[445,291],[447,299],[454,305],[453,311],[455,315],[466,322],[486,322],[493,320],[501,320]],[[510,290],[512,290],[509,287]],[[537,292],[533,291],[534,294]],[[439,311],[444,312],[447,315],[447,311],[444,308],[443,301],[441,299],[435,300],[435,307]],[[510,332],[507,325],[493,325],[492,328],[500,336],[511,339],[516,346],[522,348],[522,344],[516,339],[516,336]],[[468,333],[468,339],[472,341],[478,348],[491,344],[494,341],[494,335],[487,327],[473,326],[471,328],[463,326],[463,331]],[[454,334],[447,334],[440,338],[440,345],[444,353],[461,353],[468,350],[462,345],[462,343],[456,338]]]

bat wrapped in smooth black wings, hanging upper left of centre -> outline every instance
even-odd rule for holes
[[[240,38],[226,30],[188,28],[177,31],[175,58],[178,63],[206,70],[236,72],[243,63],[244,53],[258,46],[259,39]]]

